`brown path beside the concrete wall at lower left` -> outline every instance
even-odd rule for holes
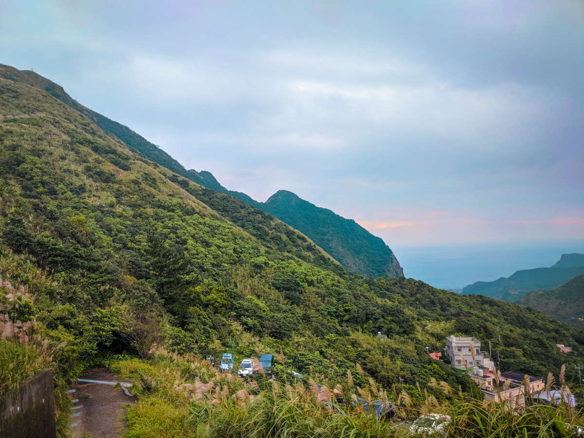
[[[97,368],[85,371],[81,378],[89,380],[127,382],[107,369]],[[123,419],[125,404],[134,404],[135,399],[128,397],[120,388],[101,383],[79,382],[71,387],[74,406],[71,409],[70,427],[72,437],[119,437],[126,427]],[[79,414],[79,415],[77,415]]]

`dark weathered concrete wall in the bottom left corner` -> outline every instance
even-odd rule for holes
[[[54,438],[53,370],[20,383],[18,391],[0,395],[0,437]]]

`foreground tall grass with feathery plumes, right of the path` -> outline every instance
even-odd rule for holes
[[[207,361],[159,350],[150,361],[130,359],[113,369],[136,383],[138,404],[128,410],[127,437],[406,437],[408,424],[420,413],[443,413],[451,418],[447,436],[470,438],[551,438],[575,436],[567,425],[582,425],[581,414],[569,406],[533,405],[512,408],[509,401],[484,402],[468,397],[445,382],[430,381],[426,402],[412,405],[405,391],[394,395],[370,383],[366,389],[345,388],[344,404],[334,404],[343,388],[329,390],[324,382],[307,386],[296,382],[259,378],[259,384],[231,374],[218,374]],[[349,374],[349,380],[350,374]],[[562,380],[562,376],[560,378]],[[431,391],[443,392],[439,404]],[[378,420],[363,412],[356,394],[363,399],[394,399],[399,406],[395,422]]]

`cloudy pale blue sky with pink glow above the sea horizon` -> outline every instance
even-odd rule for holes
[[[0,0],[0,62],[228,189],[353,218],[406,275],[584,250],[581,0]]]

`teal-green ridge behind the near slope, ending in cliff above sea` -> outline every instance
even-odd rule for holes
[[[343,218],[326,208],[317,207],[286,190],[280,190],[273,194],[265,203],[258,202],[245,193],[227,190],[215,179],[212,173],[185,169],[176,159],[157,145],[152,144],[127,126],[81,105],[72,99],[62,86],[33,71],[18,70],[0,64],[0,77],[46,91],[65,105],[87,116],[106,134],[119,138],[130,150],[142,157],[207,187],[207,189],[234,196],[245,204],[273,215],[302,232],[332,258],[353,272],[373,277],[404,276],[404,270],[384,241],[353,220]]]

